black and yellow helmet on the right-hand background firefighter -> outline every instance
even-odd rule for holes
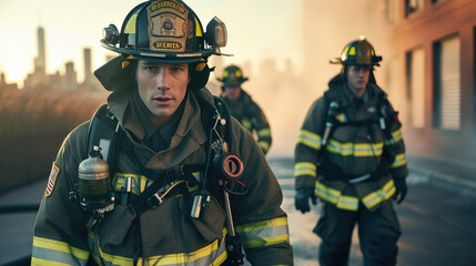
[[[375,54],[375,50],[372,44],[361,37],[358,40],[354,40],[342,50],[341,58],[331,59],[331,63],[340,63],[344,65],[379,65],[382,57]]]

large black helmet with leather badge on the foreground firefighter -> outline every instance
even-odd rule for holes
[[[214,18],[203,31],[193,10],[182,0],[151,0],[133,8],[121,31],[110,24],[101,45],[114,52],[159,63],[193,63],[221,54],[226,27]]]

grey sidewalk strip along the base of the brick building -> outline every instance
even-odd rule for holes
[[[465,194],[476,195],[476,163],[428,155],[407,155],[411,173],[428,183]]]

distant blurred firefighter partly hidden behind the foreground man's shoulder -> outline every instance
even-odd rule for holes
[[[232,116],[255,135],[257,144],[266,154],[272,141],[270,123],[261,108],[241,88],[249,79],[243,76],[239,66],[231,64],[223,70],[222,78],[217,80],[223,82],[222,98],[229,104]]]

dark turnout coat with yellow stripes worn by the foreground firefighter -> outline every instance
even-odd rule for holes
[[[122,86],[118,84],[118,86]],[[109,88],[108,88],[109,89]],[[206,89],[189,90],[183,113],[170,145],[159,152],[144,145],[144,130],[131,109],[134,88],[117,90],[108,99],[136,158],[151,170],[171,170],[206,162],[207,132],[201,120],[203,104],[213,105]],[[136,89],[135,89],[136,90]],[[247,193],[231,196],[235,231],[253,265],[292,265],[286,214],[280,185],[264,155],[236,120],[232,120],[233,151],[244,163],[241,182]],[[47,192],[34,225],[32,265],[221,265],[225,262],[225,212],[219,195],[199,219],[192,218],[189,192],[166,197],[153,209],[138,215],[130,205],[115,204],[113,211],[93,226],[87,224],[91,213],[69,201],[78,183],[78,165],[88,157],[87,137],[90,122],[74,129],[64,140],[53,163]],[[192,174],[198,181],[203,170]],[[119,192],[124,180],[132,177],[132,192],[141,194],[158,176],[145,176],[138,164],[120,151],[112,190]],[[217,182],[211,178],[209,183]],[[170,184],[169,184],[170,185]]]

